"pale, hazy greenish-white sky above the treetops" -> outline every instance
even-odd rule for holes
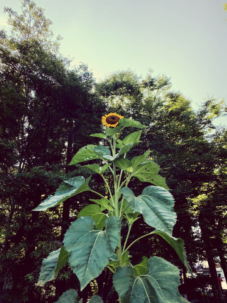
[[[94,77],[131,68],[145,77],[171,77],[173,89],[192,100],[227,95],[226,0],[36,0],[64,38],[60,53],[87,63]],[[0,28],[7,26],[4,6],[18,13],[19,0],[2,0]],[[227,118],[222,119],[227,124]]]

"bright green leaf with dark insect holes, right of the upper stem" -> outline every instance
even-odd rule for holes
[[[153,161],[146,161],[145,163],[137,166],[133,173],[133,177],[137,177],[142,182],[150,182],[156,186],[169,189],[166,185],[165,178],[158,175],[160,171],[159,165]]]

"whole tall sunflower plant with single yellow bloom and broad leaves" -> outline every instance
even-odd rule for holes
[[[190,271],[183,240],[172,236],[176,223],[174,199],[168,191],[165,179],[158,175],[159,166],[148,158],[150,150],[131,160],[127,159],[127,152],[140,142],[141,133],[146,126],[125,119],[117,113],[105,115],[101,121],[106,126],[104,133],[90,136],[106,140],[109,147],[91,144],[84,146],[69,165],[99,160],[99,164],[88,164],[84,167],[90,168],[103,178],[106,194],[101,195],[91,189],[90,178],[85,180],[82,176],[74,177],[63,181],[53,196],[49,196],[34,209],[48,210],[83,191],[91,191],[99,196],[99,199],[92,199],[93,204],[82,209],[77,219],[72,222],[64,235],[64,246],[52,251],[48,258],[43,260],[36,285],[44,286],[47,281],[55,279],[59,270],[68,263],[80,281],[81,290],[103,270],[108,270],[122,303],[187,302],[178,292],[179,269],[176,266],[156,256],[143,257],[142,262],[135,266],[132,266],[129,260],[130,247],[135,242],[157,234],[175,249]],[[125,127],[139,130],[121,138],[121,131]],[[105,178],[107,171],[112,175],[113,188],[109,187]],[[132,178],[150,182],[152,185],[145,187],[140,195],[135,196],[133,190],[128,187]],[[141,215],[146,224],[152,227],[152,231],[128,243],[132,225]],[[128,233],[123,243],[120,235],[122,221],[128,225]],[[76,299],[77,292],[71,289],[66,291],[58,302],[67,303]],[[90,302],[102,300],[94,296]]]

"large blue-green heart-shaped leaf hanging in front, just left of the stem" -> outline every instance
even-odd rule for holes
[[[92,218],[81,217],[64,235],[64,245],[70,253],[69,264],[81,283],[81,290],[100,275],[119,244],[120,218],[107,218],[104,231],[94,226]]]

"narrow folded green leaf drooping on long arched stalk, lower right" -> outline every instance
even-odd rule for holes
[[[154,230],[152,234],[160,235],[161,237],[163,237],[163,239],[165,239],[166,242],[168,242],[169,245],[171,245],[174,248],[180,260],[188,269],[188,271],[192,272],[192,269],[187,260],[186,251],[184,248],[184,241],[181,238],[174,238],[173,236],[167,235],[165,232],[157,229]]]

